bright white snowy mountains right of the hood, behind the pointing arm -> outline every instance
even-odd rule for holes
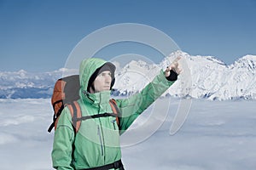
[[[177,56],[183,57],[182,63],[188,65],[183,68],[189,74],[179,77],[164,95],[195,99],[256,99],[256,55],[246,55],[233,65],[225,65],[212,56],[190,56],[182,51],[170,54],[159,65],[131,61],[119,72],[117,79],[121,81],[114,88],[125,89],[121,93],[139,91],[160,68],[165,69]]]

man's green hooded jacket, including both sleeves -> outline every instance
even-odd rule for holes
[[[107,61],[84,59],[79,69],[82,116],[113,112],[109,105],[110,90],[96,94],[87,93],[90,76]],[[154,77],[141,93],[128,99],[116,99],[122,117],[118,124],[115,117],[107,116],[81,122],[78,133],[74,133],[72,117],[67,107],[61,112],[55,130],[52,150],[53,167],[58,170],[100,167],[121,159],[119,135],[131,126],[155,99],[159,98],[173,82],[166,80],[164,71]]]

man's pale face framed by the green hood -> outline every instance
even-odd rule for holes
[[[96,77],[95,81],[92,84],[95,88],[95,91],[93,91],[93,89],[90,88],[90,93],[93,94],[97,92],[110,90],[111,82],[112,82],[111,72],[102,71],[102,73]]]

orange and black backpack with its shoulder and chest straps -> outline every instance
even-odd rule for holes
[[[61,115],[61,111],[64,109],[66,105],[71,113],[73,120],[73,128],[76,133],[79,131],[81,121],[91,118],[115,116],[117,124],[119,125],[119,109],[114,99],[109,100],[109,105],[111,106],[113,113],[103,113],[93,116],[82,116],[79,102],[77,101],[78,99],[80,99],[79,89],[79,75],[62,77],[58,79],[57,82],[55,82],[54,92],[51,97],[51,104],[53,106],[54,116],[53,122],[50,124],[48,128],[49,133],[51,132],[53,127],[57,127],[58,118]]]

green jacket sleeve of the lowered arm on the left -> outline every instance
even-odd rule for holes
[[[67,107],[61,112],[55,130],[53,150],[51,153],[53,167],[57,170],[72,169],[74,132],[71,114]]]

